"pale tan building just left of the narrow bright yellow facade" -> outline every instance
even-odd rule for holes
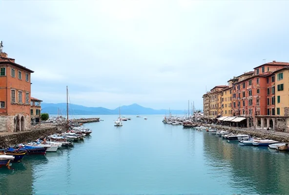
[[[221,115],[221,91],[226,88],[227,85],[218,85],[211,89],[209,93],[209,117],[217,117]]]

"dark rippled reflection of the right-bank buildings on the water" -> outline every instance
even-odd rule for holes
[[[239,146],[204,133],[207,166],[232,175],[228,185],[246,194],[287,194],[289,154],[267,147]]]

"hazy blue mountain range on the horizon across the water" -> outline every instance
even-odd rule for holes
[[[61,114],[66,115],[66,103],[41,103],[41,112],[51,115]],[[110,110],[103,107],[86,107],[77,104],[68,104],[69,115],[118,115],[119,107]],[[169,110],[154,110],[152,108],[145,108],[138,104],[131,104],[128,106],[121,106],[122,115],[161,115],[168,114]],[[183,115],[182,110],[171,110],[172,114]]]

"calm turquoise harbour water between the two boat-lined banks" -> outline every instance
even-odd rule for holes
[[[74,148],[0,169],[0,194],[289,194],[288,153],[239,146],[162,116],[85,124]]]

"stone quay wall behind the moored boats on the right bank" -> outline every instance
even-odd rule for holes
[[[222,125],[208,125],[208,124],[202,124],[206,127],[215,127],[218,130],[225,130],[231,133],[236,134],[248,134],[254,137],[260,137],[260,138],[268,138],[273,139],[280,142],[287,142],[289,143],[289,134],[284,132],[275,132],[275,131],[267,131],[267,130],[261,130],[261,129],[253,129],[253,128],[239,128],[236,127],[228,127],[228,126],[222,126]]]

